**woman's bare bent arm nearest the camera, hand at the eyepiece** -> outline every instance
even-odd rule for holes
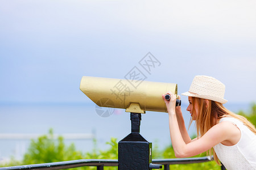
[[[174,147],[175,156],[177,158],[185,158],[201,154],[218,143],[230,138],[231,133],[228,133],[228,131],[233,128],[233,125],[221,122],[208,130],[203,137],[197,139],[196,141],[185,143],[180,133],[177,116],[175,113],[176,98],[170,92],[169,94],[171,95],[171,100],[167,101],[164,99],[164,101],[166,102],[169,114],[169,127],[172,146]]]

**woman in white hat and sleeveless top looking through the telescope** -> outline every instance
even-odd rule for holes
[[[177,158],[195,156],[207,151],[217,164],[227,169],[256,169],[256,130],[246,118],[234,114],[222,104],[225,86],[210,76],[195,76],[188,92],[187,111],[196,121],[197,138],[189,137],[176,97],[163,99],[169,114],[172,146]],[[179,96],[180,97],[180,96]]]

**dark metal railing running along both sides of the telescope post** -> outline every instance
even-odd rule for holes
[[[153,159],[152,163],[162,164],[164,170],[169,170],[171,164],[192,164],[192,163],[203,163],[210,162],[212,159],[209,156],[199,158],[180,158],[180,159]],[[80,159],[80,160],[69,160],[64,162],[55,163],[44,163],[44,164],[31,164],[31,165],[20,165],[15,167],[3,167],[0,170],[14,170],[14,169],[68,169],[77,167],[97,167],[97,170],[103,170],[104,167],[116,167],[118,166],[118,160],[113,159]],[[225,169],[224,165],[221,169]]]

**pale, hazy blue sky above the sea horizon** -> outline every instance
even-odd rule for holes
[[[148,81],[181,94],[209,75],[229,103],[251,103],[255,30],[250,0],[1,0],[0,103],[92,103],[82,76],[124,79],[148,52],[160,63]]]

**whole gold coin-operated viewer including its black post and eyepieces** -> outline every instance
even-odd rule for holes
[[[162,94],[171,91],[177,97],[177,84],[141,81],[135,87],[135,81],[83,76],[80,90],[99,107],[130,112],[131,133],[118,142],[118,170],[160,169],[162,165],[152,164],[152,143],[139,134],[141,113],[167,112]],[[166,99],[170,100],[170,95]],[[176,106],[180,104],[177,99]]]

